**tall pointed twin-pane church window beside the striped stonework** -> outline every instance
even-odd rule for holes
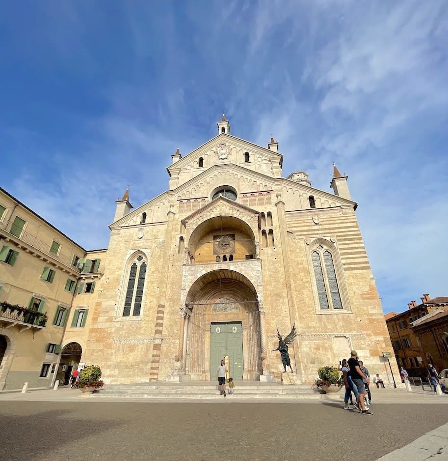
[[[318,244],[311,252],[317,298],[321,311],[343,310],[341,283],[335,269],[334,250]]]

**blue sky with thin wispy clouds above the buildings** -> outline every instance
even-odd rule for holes
[[[385,312],[448,295],[446,1],[0,6],[1,186],[88,249],[216,134],[349,175]]]

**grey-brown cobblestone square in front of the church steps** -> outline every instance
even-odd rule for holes
[[[448,422],[445,405],[0,403],[6,460],[377,460]],[[358,442],[357,442],[358,441]]]

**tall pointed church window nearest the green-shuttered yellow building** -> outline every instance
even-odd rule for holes
[[[145,287],[147,262],[138,254],[128,263],[122,317],[139,317]]]

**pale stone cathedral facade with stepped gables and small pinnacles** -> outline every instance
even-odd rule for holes
[[[86,328],[68,327],[62,346],[79,343],[107,382],[214,379],[221,358],[234,379],[272,381],[277,329],[295,325],[300,382],[351,349],[387,380],[392,346],[347,176],[334,167],[334,193],[315,189],[305,172],[282,176],[274,139],[238,139],[224,115],[217,131],[172,155],[168,190],[136,209],[129,191],[117,201],[104,273],[81,274],[78,287],[96,287],[73,300],[90,308]]]

